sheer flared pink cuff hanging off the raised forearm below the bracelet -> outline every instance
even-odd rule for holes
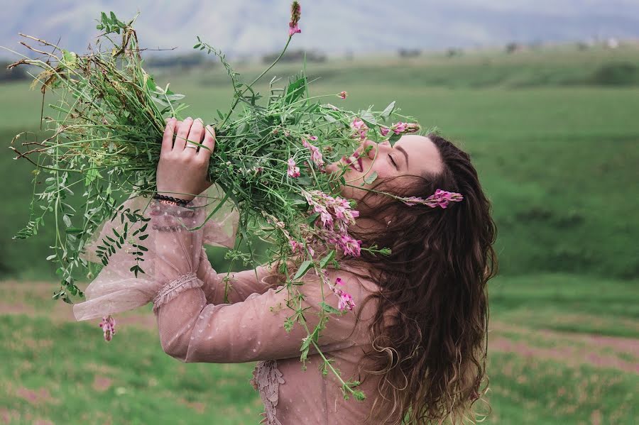
[[[146,220],[135,223],[126,220],[122,223],[119,218],[107,220],[85,245],[80,257],[102,264],[98,253],[104,250],[101,245],[104,247],[104,243],[109,243],[107,236],[116,239],[114,231],[126,235],[124,241],[116,240],[121,248],[109,256],[108,264],[84,290],[85,301],[73,306],[76,320],[128,311],[155,299],[159,306],[171,299],[174,295],[170,292],[164,297],[158,297],[158,294],[182,276],[195,275],[200,265],[202,243],[233,247],[238,223],[234,205],[225,202],[207,221],[223,198],[219,187],[213,185],[195,197],[188,207],[154,202],[142,196],[127,199],[119,211],[139,214]],[[128,224],[126,231],[125,224]],[[188,230],[202,224],[197,230]],[[136,266],[141,269],[137,277]],[[179,290],[185,290],[186,285],[198,285],[195,282],[183,283]],[[201,280],[199,285],[202,285]]]

